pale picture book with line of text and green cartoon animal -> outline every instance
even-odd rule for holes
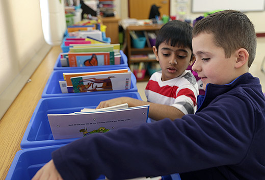
[[[48,114],[54,139],[82,138],[147,122],[149,105],[116,110]]]

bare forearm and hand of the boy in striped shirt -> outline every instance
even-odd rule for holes
[[[184,114],[173,106],[161,105],[152,102],[145,102],[131,97],[118,97],[101,101],[96,109],[107,108],[127,103],[129,107],[150,105],[148,117],[154,120],[169,118],[171,120],[181,118]]]

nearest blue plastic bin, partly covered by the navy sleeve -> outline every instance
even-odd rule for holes
[[[30,180],[36,172],[51,160],[51,152],[63,145],[22,149],[17,151],[6,180]],[[105,179],[104,175],[98,179]]]

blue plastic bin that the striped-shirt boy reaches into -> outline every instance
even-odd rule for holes
[[[121,96],[141,100],[138,92],[41,98],[22,138],[21,148],[67,144],[76,140],[77,138],[54,140],[47,114],[73,113],[83,108],[96,108],[100,101]]]

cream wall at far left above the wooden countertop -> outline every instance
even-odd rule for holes
[[[50,48],[39,1],[0,1],[0,119]]]

